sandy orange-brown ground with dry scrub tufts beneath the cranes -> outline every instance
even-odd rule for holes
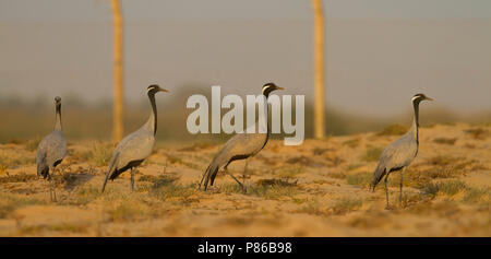
[[[139,168],[135,191],[124,173],[100,193],[111,146],[75,142],[56,174],[58,202],[36,178],[35,148],[3,144],[0,236],[491,236],[490,131],[420,129],[403,201],[400,174],[390,177],[388,210],[383,185],[372,192],[368,183],[398,136],[270,141],[244,176],[244,162],[229,166],[246,178],[247,193],[223,173],[208,191],[197,190],[221,146],[206,143],[157,145]]]

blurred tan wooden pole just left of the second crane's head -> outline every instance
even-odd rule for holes
[[[119,142],[123,138],[123,49],[122,49],[122,14],[121,4],[119,0],[111,0],[112,9],[112,30],[113,30],[113,61],[115,61],[115,95],[113,95],[113,125],[112,125],[112,140]]]

